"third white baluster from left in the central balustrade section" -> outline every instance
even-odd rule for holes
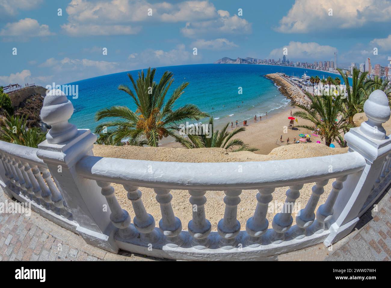
[[[156,200],[160,204],[161,219],[159,228],[166,236],[167,246],[178,247],[184,242],[182,232],[182,223],[178,217],[175,217],[172,210],[170,189],[154,188]]]

